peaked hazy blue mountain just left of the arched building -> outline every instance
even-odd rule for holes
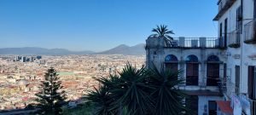
[[[143,43],[131,47],[125,44],[121,44],[113,49],[108,49],[106,51],[96,53],[96,55],[146,55],[144,46],[145,44]]]

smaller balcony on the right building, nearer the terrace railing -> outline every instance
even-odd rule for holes
[[[230,48],[239,48],[241,41],[241,30],[236,30],[234,32],[230,32],[229,37],[229,47]]]

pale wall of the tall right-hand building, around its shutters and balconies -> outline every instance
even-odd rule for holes
[[[248,58],[249,55],[256,55],[256,44],[244,43],[244,26],[247,22],[253,20],[253,0],[242,0],[243,3],[243,20],[242,20],[242,35],[241,47],[227,49],[227,76],[231,78],[232,83],[236,83],[235,66],[240,66],[240,93],[247,94],[247,72],[248,66],[256,66],[256,60]],[[222,23],[222,33],[224,33],[224,20],[228,18],[228,33],[236,30],[236,9],[241,6],[241,0],[236,0],[230,9],[218,20],[218,36],[220,23]],[[229,34],[228,34],[229,35]],[[229,41],[229,37],[228,37]],[[229,43],[229,42],[228,42]],[[235,90],[234,90],[235,91]]]

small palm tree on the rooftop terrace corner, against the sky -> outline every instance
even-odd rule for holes
[[[174,32],[169,31],[167,29],[167,26],[165,25],[157,26],[156,28],[153,28],[152,32],[156,32],[156,33],[150,35],[150,37],[164,38],[165,45],[171,46],[171,41],[173,40],[173,37],[169,36],[169,34],[174,34]]]

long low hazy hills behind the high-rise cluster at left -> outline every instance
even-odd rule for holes
[[[89,55],[93,51],[70,51],[67,49],[44,49],[36,47],[4,48],[0,49],[0,55]]]

